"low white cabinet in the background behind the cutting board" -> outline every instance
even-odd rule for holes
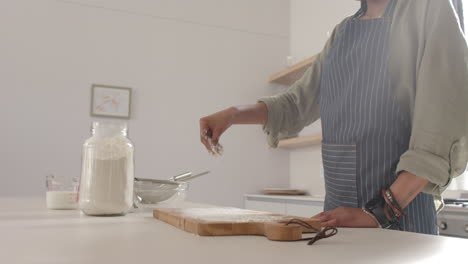
[[[246,194],[244,207],[249,210],[312,217],[323,211],[323,198]]]

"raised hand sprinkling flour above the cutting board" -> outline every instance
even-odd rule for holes
[[[200,119],[200,141],[210,153],[213,151],[207,136],[211,137],[212,143],[217,145],[221,134],[232,126],[236,112],[235,107],[230,107]]]

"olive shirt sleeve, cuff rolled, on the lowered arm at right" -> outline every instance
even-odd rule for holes
[[[467,43],[450,1],[432,1],[426,15],[410,145],[397,173],[427,179],[424,192],[440,195],[468,162]]]

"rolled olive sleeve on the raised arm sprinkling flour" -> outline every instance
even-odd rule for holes
[[[341,23],[343,24],[344,21]],[[282,138],[297,134],[320,118],[320,76],[323,58],[327,55],[341,26],[333,30],[324,49],[319,53],[301,79],[282,94],[259,99],[268,109],[268,120],[263,126],[271,147],[277,147]]]

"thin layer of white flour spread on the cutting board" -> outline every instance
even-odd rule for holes
[[[180,216],[209,222],[276,222],[290,217],[271,215],[239,208],[186,208],[178,211]]]

